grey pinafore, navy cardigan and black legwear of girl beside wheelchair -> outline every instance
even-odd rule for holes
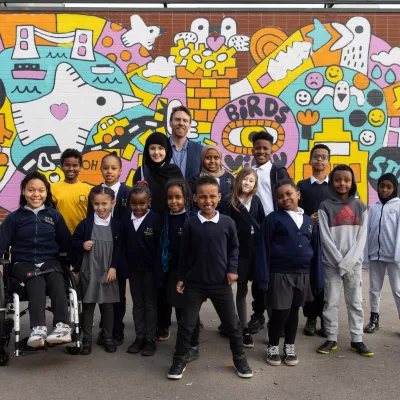
[[[105,339],[111,339],[114,328],[113,303],[119,302],[118,281],[106,283],[109,268],[118,271],[119,264],[118,220],[109,216],[102,220],[96,214],[88,216],[77,226],[72,243],[76,262],[74,271],[79,272],[79,288],[82,295],[82,330],[86,341],[92,340],[93,315],[99,305]],[[83,244],[94,241],[90,251]]]

